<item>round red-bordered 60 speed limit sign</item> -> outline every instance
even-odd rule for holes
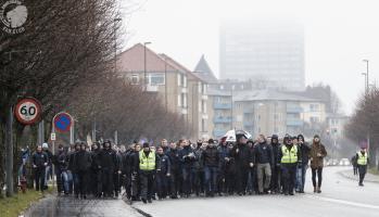
[[[24,125],[33,125],[39,120],[41,104],[34,98],[25,98],[17,102],[14,108],[17,120]]]

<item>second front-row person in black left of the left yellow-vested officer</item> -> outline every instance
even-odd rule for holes
[[[102,176],[103,196],[112,197],[114,190],[113,174],[116,169],[117,156],[116,153],[112,150],[110,141],[105,141],[103,143],[103,149],[99,153],[99,162]]]

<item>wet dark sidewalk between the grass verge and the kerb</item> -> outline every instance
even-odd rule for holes
[[[141,216],[123,200],[77,200],[72,196],[48,195],[24,214],[25,217],[118,217]]]

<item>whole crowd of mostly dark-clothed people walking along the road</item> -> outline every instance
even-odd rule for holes
[[[280,143],[282,142],[282,144]],[[43,144],[45,145],[45,144]],[[311,162],[315,193],[321,192],[324,157],[320,138],[312,143],[299,135],[281,140],[260,135],[256,140],[236,135],[236,142],[222,138],[168,142],[159,145],[135,142],[128,146],[76,142],[59,145],[52,154],[38,146],[31,155],[36,190],[47,186],[47,171],[54,165],[59,195],[77,199],[123,195],[130,202],[190,196],[304,193]]]

